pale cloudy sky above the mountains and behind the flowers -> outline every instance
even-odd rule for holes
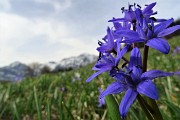
[[[157,2],[157,18],[180,18],[180,0],[0,0],[0,66],[98,55],[107,21],[122,17],[128,2]]]

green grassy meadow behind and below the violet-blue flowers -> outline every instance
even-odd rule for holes
[[[180,71],[180,55],[172,51],[180,46],[180,37],[169,40],[171,52],[163,55],[150,49],[148,69]],[[57,74],[45,74],[16,83],[0,83],[1,120],[107,120],[106,106],[98,108],[98,88],[113,81],[108,74],[90,83],[85,80],[94,73],[93,64]],[[76,80],[79,74],[81,80]],[[159,91],[158,105],[165,120],[180,119],[180,77],[166,77],[154,82]],[[61,91],[61,88],[65,91]],[[118,101],[124,93],[115,95]],[[145,120],[137,101],[128,112],[127,120]]]

